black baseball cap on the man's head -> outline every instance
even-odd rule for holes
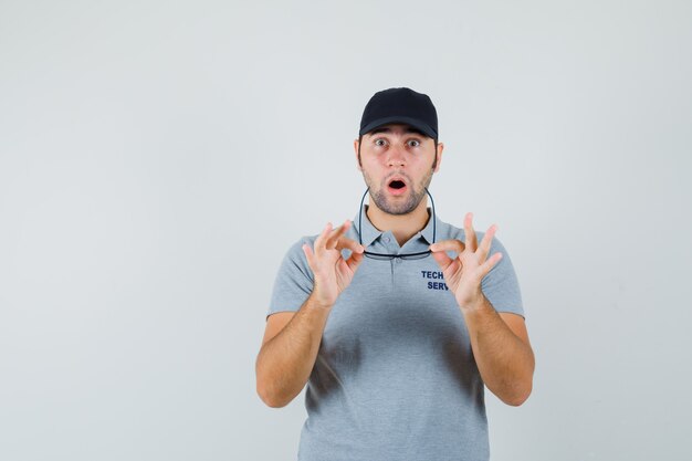
[[[389,88],[375,93],[363,111],[359,135],[391,123],[410,125],[438,139],[438,112],[427,94],[411,88]]]

